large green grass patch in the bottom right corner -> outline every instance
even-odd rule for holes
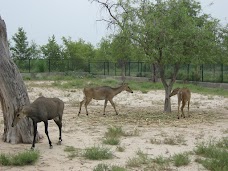
[[[227,140],[221,139],[218,142],[198,144],[195,153],[204,158],[198,158],[196,161],[205,168],[212,171],[228,170],[228,152]]]

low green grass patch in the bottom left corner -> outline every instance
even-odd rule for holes
[[[39,151],[24,151],[18,154],[0,154],[0,164],[3,166],[24,166],[34,164],[40,157]]]

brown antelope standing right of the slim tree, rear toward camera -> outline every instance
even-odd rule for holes
[[[189,104],[190,104],[190,99],[191,99],[191,92],[188,88],[175,88],[171,94],[169,95],[169,97],[172,97],[174,95],[177,94],[177,98],[178,98],[178,119],[179,119],[179,108],[180,108],[180,103],[182,102],[182,106],[181,106],[181,116],[183,116],[185,118],[184,115],[184,107],[186,105],[186,102],[188,102],[188,116],[189,116]]]

